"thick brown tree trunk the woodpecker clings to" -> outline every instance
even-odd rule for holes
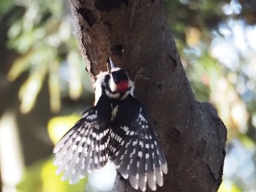
[[[110,56],[136,82],[135,96],[151,115],[168,173],[157,191],[217,191],[222,182],[226,128],[217,111],[198,103],[162,13],[162,1],[71,0],[80,52],[91,79]],[[136,191],[120,174],[113,191]],[[148,190],[149,191],[149,190]]]

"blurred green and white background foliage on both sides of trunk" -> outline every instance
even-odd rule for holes
[[[255,192],[256,1],[163,8],[197,101],[214,104],[227,126],[219,192]],[[0,0],[0,191],[109,190],[55,175],[53,145],[94,102],[72,25],[69,2]]]

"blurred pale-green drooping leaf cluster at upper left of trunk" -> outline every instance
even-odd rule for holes
[[[42,83],[48,79],[50,108],[61,108],[61,66],[69,68],[64,82],[69,79],[69,96],[78,99],[82,93],[80,70],[83,62],[78,45],[72,36],[72,23],[64,15],[62,1],[17,1],[25,12],[9,29],[8,47],[20,53],[12,64],[8,80],[14,81],[20,74],[29,72],[20,88],[20,111],[28,113],[34,107]],[[18,9],[14,7],[13,9]],[[68,64],[68,65],[66,65]],[[66,79],[65,79],[66,78]]]

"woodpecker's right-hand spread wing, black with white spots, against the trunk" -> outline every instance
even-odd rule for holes
[[[129,177],[133,188],[155,191],[163,185],[167,163],[157,136],[140,101],[127,96],[113,110],[116,116],[111,123],[109,156],[124,178]]]

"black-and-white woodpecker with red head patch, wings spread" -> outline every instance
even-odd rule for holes
[[[109,60],[110,70],[94,83],[95,106],[53,150],[56,174],[64,171],[62,180],[75,183],[110,160],[133,188],[146,191],[148,184],[155,191],[167,174],[165,154],[145,108],[133,96],[134,82]]]

